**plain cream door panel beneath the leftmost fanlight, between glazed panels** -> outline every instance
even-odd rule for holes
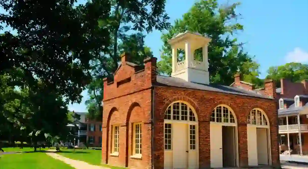
[[[173,123],[173,168],[187,168],[188,141],[187,124]]]

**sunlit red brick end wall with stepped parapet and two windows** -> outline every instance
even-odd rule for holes
[[[122,61],[125,61],[123,59]],[[139,169],[151,168],[152,159],[152,115],[151,88],[156,81],[156,58],[145,60],[145,69],[136,71],[131,65],[122,62],[116,72],[114,82],[104,81],[103,106],[103,145],[102,163]],[[155,77],[153,76],[155,75]],[[127,83],[119,82],[130,78]],[[142,158],[132,155],[132,125],[142,122]],[[111,126],[120,125],[119,156],[111,156]]]

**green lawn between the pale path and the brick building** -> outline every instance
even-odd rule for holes
[[[57,153],[67,158],[84,161],[92,165],[108,167],[110,169],[127,169],[124,167],[115,167],[115,166],[110,166],[106,164],[102,165],[101,164],[102,150],[75,149],[75,152],[74,152],[73,149],[65,149]]]

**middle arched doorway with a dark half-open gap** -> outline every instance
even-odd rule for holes
[[[213,109],[210,120],[211,167],[236,167],[238,164],[237,119],[227,105]]]

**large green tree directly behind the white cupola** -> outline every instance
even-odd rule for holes
[[[172,54],[168,40],[185,31],[198,32],[212,39],[208,46],[210,82],[230,85],[233,75],[240,71],[247,82],[256,82],[259,65],[241,48],[242,43],[232,36],[243,26],[237,22],[235,8],[239,3],[219,6],[217,0],[201,0],[196,2],[182,19],[177,19],[174,26],[161,37],[161,61],[158,62],[159,73],[171,75]],[[184,51],[179,50],[178,60],[183,60]],[[202,50],[194,53],[196,60],[202,58]]]

